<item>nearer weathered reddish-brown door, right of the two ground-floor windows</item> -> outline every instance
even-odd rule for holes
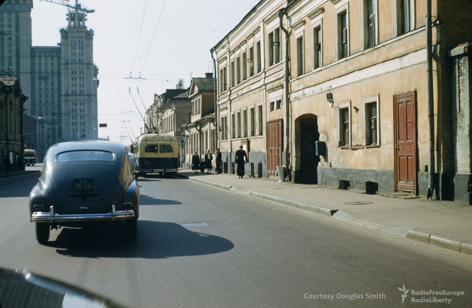
[[[416,192],[416,93],[394,96],[394,190]]]

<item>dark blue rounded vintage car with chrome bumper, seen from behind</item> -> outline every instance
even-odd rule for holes
[[[135,240],[139,186],[125,146],[101,140],[52,145],[30,192],[29,209],[41,244],[53,228],[93,222],[122,224],[124,238]]]

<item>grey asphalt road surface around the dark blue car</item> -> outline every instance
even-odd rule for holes
[[[28,269],[130,307],[447,306],[413,297],[451,299],[450,307],[472,302],[471,256],[180,178],[140,178],[134,245],[102,226],[51,231],[42,246],[27,209],[38,175],[0,179],[0,267]],[[408,293],[402,305],[403,285],[464,295]]]

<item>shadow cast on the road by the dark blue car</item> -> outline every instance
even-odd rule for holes
[[[209,255],[234,248],[225,238],[190,231],[174,222],[139,220],[136,242],[128,244],[121,238],[121,230],[110,224],[88,229],[64,228],[48,246],[58,248],[56,252],[67,257],[149,259]]]

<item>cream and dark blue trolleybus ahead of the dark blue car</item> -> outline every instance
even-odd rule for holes
[[[133,142],[139,176],[147,173],[174,176],[178,171],[177,138],[164,134],[143,134]]]

